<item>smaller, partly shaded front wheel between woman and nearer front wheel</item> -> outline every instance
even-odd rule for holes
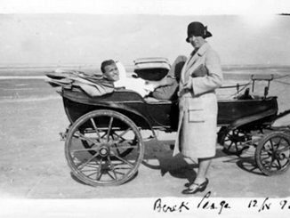
[[[248,148],[247,141],[251,137],[241,129],[233,129],[225,133],[222,142],[223,149],[230,154],[240,154],[244,149]]]

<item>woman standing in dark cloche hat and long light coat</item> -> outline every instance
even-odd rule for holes
[[[183,194],[204,191],[207,170],[215,155],[217,100],[215,89],[222,85],[220,58],[205,38],[212,36],[200,22],[188,26],[186,41],[194,48],[181,71],[179,127],[174,154],[198,162],[197,177]]]

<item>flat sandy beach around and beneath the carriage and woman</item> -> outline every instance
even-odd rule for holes
[[[228,79],[226,84],[245,81]],[[290,78],[283,77],[270,85],[270,95],[278,96],[279,111],[290,109],[288,84]],[[60,95],[44,83],[43,78],[4,78],[0,85],[2,198],[181,197],[182,183],[187,181],[189,171],[176,171],[177,166],[185,163],[181,157],[172,159],[170,145],[174,133],[160,132],[158,141],[146,142],[145,164],[133,181],[118,187],[93,188],[77,182],[67,166],[59,133],[68,126],[68,118]],[[263,90],[262,85],[256,87],[257,92]],[[235,92],[235,88],[231,88],[230,92],[222,90],[220,94],[229,97]],[[221,146],[217,146],[209,185],[214,197],[290,196],[287,182],[290,171],[269,177],[262,175],[259,169],[246,170],[247,164],[254,164],[253,153],[254,150],[249,149],[245,157],[227,156]]]

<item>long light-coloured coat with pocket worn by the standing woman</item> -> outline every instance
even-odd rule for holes
[[[189,84],[191,89],[182,87]],[[179,126],[173,155],[214,157],[217,100],[214,90],[222,85],[221,61],[208,43],[189,56],[181,70]]]

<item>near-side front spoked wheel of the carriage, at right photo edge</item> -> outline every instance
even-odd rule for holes
[[[274,132],[266,135],[255,150],[255,160],[266,175],[282,174],[290,166],[290,137]]]

